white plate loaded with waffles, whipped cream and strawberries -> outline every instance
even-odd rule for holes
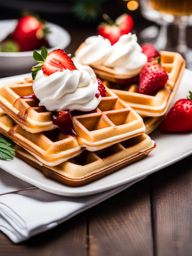
[[[0,167],[50,193],[99,193],[144,178],[191,153],[190,133],[150,137],[179,88],[183,58],[161,52],[150,59],[131,34],[103,55],[105,39],[94,38],[101,53],[93,50],[93,38],[88,39],[91,45],[80,46],[73,59],[61,49],[48,53],[42,48],[40,53],[34,51],[37,65],[32,75],[0,80],[0,133],[15,143],[16,155],[0,160]],[[120,61],[121,41],[128,53],[120,50]],[[85,59],[94,62],[84,63]],[[104,62],[113,63],[106,68],[113,69],[110,74],[117,80],[97,72],[97,65],[105,70]],[[187,86],[179,89],[180,97]],[[180,138],[182,149],[175,147]],[[173,148],[166,147],[169,140]],[[10,159],[11,143],[5,146],[3,141],[2,155]]]

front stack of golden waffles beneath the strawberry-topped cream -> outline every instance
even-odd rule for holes
[[[0,86],[0,132],[17,155],[46,176],[78,186],[147,156],[154,142],[140,115],[107,89],[97,109],[72,115],[76,135],[64,134],[33,97],[32,79]]]

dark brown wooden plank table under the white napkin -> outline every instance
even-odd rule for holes
[[[70,31],[69,52],[94,33]],[[0,233],[0,255],[190,256],[191,238],[192,156],[25,243]]]

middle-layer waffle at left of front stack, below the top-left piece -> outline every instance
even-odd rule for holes
[[[22,129],[2,110],[0,110],[0,133],[48,166],[63,163],[81,152],[81,147],[73,136],[64,135],[58,130],[31,134]]]

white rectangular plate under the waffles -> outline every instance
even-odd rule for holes
[[[12,82],[13,80],[18,80],[18,76],[0,79],[0,83]],[[192,72],[186,70],[174,100],[186,97],[188,91],[192,90],[191,81]],[[147,175],[192,154],[192,133],[165,135],[156,132],[152,137],[156,141],[157,147],[149,157],[82,187],[68,187],[48,179],[41,172],[18,158],[11,161],[0,160],[0,168],[53,194],[71,197],[93,195],[145,178]]]

